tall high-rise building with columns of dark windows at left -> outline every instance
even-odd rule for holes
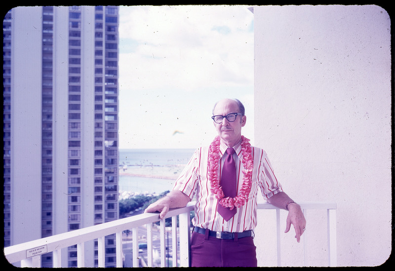
[[[4,246],[118,219],[118,7],[11,9],[3,100]],[[97,242],[84,248],[97,266]],[[76,255],[62,251],[65,266]]]

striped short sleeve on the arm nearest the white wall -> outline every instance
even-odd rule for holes
[[[263,151],[261,159],[261,171],[260,171],[260,188],[262,196],[265,200],[268,200],[273,195],[283,192],[281,184],[278,182],[276,175],[273,170],[273,166],[265,151]]]

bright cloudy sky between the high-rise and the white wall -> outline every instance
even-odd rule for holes
[[[218,100],[245,106],[253,137],[254,44],[249,6],[119,8],[119,149],[188,148],[217,135]]]

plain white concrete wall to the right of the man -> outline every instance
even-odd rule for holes
[[[259,6],[254,28],[254,145],[294,200],[337,203],[339,266],[381,265],[391,253],[389,14],[375,5]],[[258,264],[275,266],[273,215],[260,212]],[[326,213],[307,221],[308,265],[326,265]],[[281,237],[283,266],[303,265],[294,235]]]

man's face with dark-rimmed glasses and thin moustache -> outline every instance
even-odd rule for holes
[[[233,100],[221,100],[215,106],[213,114],[226,116],[230,113],[240,113],[237,103]],[[233,147],[241,138],[241,127],[245,125],[246,116],[237,115],[236,120],[230,122],[226,117],[223,118],[222,123],[215,123],[215,129],[218,132],[221,140],[225,142],[228,147]]]

